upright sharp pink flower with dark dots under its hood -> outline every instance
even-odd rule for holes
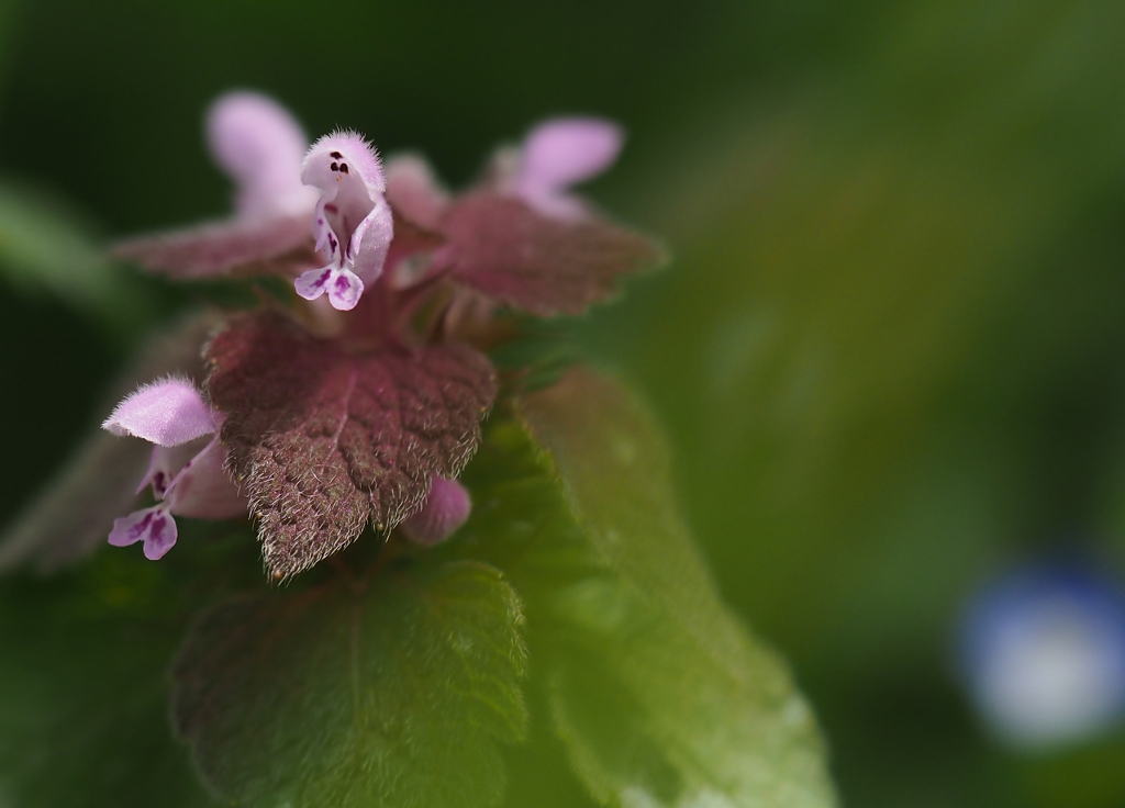
[[[333,308],[348,311],[382,273],[394,236],[382,166],[360,135],[335,131],[313,144],[300,179],[321,191],[313,231],[328,264],[302,274],[297,293],[306,300],[327,293]]]

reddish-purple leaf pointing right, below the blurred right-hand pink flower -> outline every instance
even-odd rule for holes
[[[448,244],[436,254],[439,269],[543,317],[580,314],[612,297],[620,275],[662,261],[650,242],[606,221],[550,219],[495,193],[459,199],[441,229]]]

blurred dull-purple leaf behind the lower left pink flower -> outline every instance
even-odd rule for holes
[[[212,314],[195,315],[156,335],[112,385],[99,420],[138,384],[181,374],[200,381],[202,346],[218,325]],[[128,512],[152,446],[97,429],[79,447],[17,521],[0,537],[0,572],[24,563],[50,571],[84,557],[105,543],[114,519]]]

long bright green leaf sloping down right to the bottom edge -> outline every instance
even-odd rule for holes
[[[835,804],[783,662],[719,601],[675,510],[652,419],[575,370],[493,423],[450,552],[484,555],[526,605],[555,729],[623,806]]]

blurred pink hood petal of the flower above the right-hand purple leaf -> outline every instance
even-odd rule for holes
[[[560,194],[609,169],[624,134],[598,118],[557,118],[540,124],[523,144],[515,192],[529,201]]]

